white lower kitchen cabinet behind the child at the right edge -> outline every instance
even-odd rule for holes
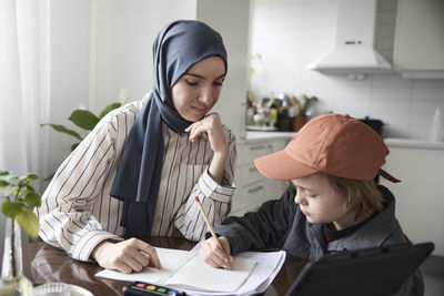
[[[383,177],[396,198],[396,217],[413,243],[433,242],[434,255],[444,256],[444,143],[385,140],[390,149],[384,170],[400,178]]]

